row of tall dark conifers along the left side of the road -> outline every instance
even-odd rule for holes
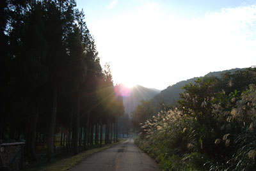
[[[122,97],[109,65],[100,66],[76,1],[5,0],[0,13],[0,140],[26,140],[25,153],[34,160],[36,146],[47,144],[48,161],[56,133],[74,154],[101,145],[103,131],[106,144],[116,142]]]

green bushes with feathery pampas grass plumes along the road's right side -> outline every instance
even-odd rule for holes
[[[164,170],[255,170],[255,73],[185,85],[179,108],[147,119],[136,142]]]

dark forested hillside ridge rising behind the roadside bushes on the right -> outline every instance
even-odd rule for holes
[[[220,75],[223,73],[227,73],[227,72],[234,73],[237,70],[243,70],[243,69],[235,68],[232,70],[210,72],[207,75],[205,75],[204,77],[211,77],[211,76],[220,77]],[[152,100],[150,100],[152,105],[154,105],[154,107],[156,107],[160,102],[163,102],[163,101],[164,101],[164,103],[170,105],[173,102],[179,100],[179,97],[180,97],[179,94],[184,92],[184,90],[182,90],[181,88],[184,85],[189,84],[189,82],[192,82],[192,83],[195,82],[195,80],[197,80],[198,78],[201,78],[201,77],[190,78],[188,80],[183,80],[183,81],[177,82],[174,85],[170,85],[169,87],[167,87],[160,93],[156,94],[156,96],[154,96],[154,98],[152,98]]]

